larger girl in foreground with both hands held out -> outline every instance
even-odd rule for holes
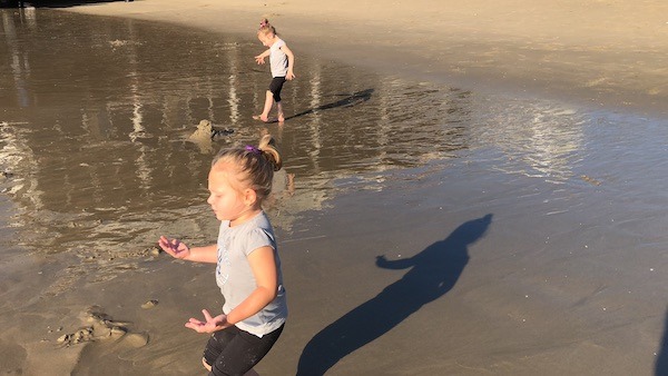
[[[175,258],[212,263],[225,297],[223,313],[186,327],[213,334],[202,359],[209,375],[255,374],[252,369],[283,332],[287,304],[274,230],[262,209],[281,155],[269,135],[258,147],[222,150],[208,175],[210,205],[220,220],[217,244],[188,247],[164,236],[158,245]]]

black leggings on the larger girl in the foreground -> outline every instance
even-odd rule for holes
[[[204,349],[204,362],[212,366],[209,376],[244,375],[269,352],[283,327],[262,338],[236,326],[215,332]]]

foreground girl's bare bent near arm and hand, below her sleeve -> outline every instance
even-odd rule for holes
[[[276,270],[276,260],[274,259],[274,249],[272,247],[262,247],[255,249],[248,255],[248,263],[255,276],[257,287],[250,295],[234,308],[229,315],[224,314],[212,317],[208,310],[203,309],[204,321],[197,318],[190,318],[186,327],[197,333],[214,333],[222,330],[234,324],[242,321],[266,307],[278,294],[278,271]]]

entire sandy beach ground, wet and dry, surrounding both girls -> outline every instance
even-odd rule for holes
[[[3,13],[4,374],[204,374],[213,270],[155,241],[215,238],[212,152],[261,131],[291,310],[261,375],[668,374],[668,3],[41,11],[13,28],[102,37],[40,55]],[[285,126],[250,117],[263,17],[297,57]],[[205,118],[229,136],[183,141]]]

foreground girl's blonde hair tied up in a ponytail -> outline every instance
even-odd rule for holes
[[[212,168],[219,161],[236,166],[236,180],[244,187],[255,190],[262,202],[272,192],[274,171],[283,166],[281,154],[271,135],[265,135],[257,147],[247,145],[244,148],[220,150],[212,161]]]

